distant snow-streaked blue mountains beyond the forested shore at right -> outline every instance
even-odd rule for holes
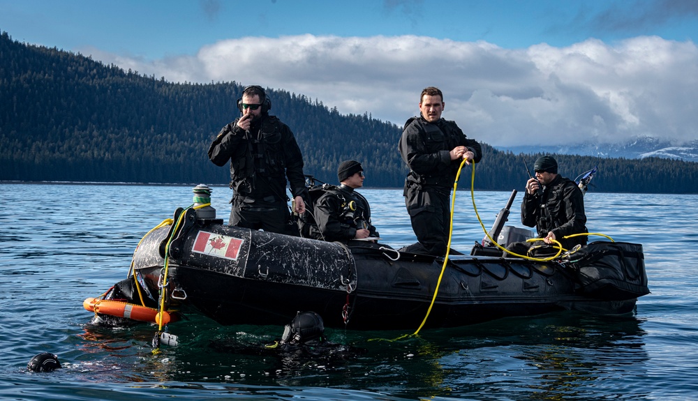
[[[563,146],[509,146],[497,149],[512,153],[557,153],[563,155],[595,156],[600,158],[667,158],[698,162],[698,139],[676,145],[654,137],[638,137],[622,144],[574,144]]]

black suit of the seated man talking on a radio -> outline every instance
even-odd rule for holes
[[[563,248],[570,250],[574,245],[584,245],[587,236],[563,236],[588,232],[584,214],[584,194],[577,183],[558,175],[547,186],[542,195],[530,195],[526,192],[521,202],[521,223],[528,227],[535,226],[539,238],[553,232]]]

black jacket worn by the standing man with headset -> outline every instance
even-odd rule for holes
[[[303,196],[303,157],[291,130],[276,116],[263,114],[245,132],[237,119],[223,127],[209,147],[218,166],[230,160],[234,199],[243,202],[285,202],[286,178],[293,197]]]

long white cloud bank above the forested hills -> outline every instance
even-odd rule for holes
[[[698,49],[655,36],[507,50],[424,36],[306,34],[222,40],[156,61],[93,56],[173,82],[284,89],[399,126],[434,85],[444,91],[443,116],[495,146],[698,137]]]

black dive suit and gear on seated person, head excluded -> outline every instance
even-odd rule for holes
[[[371,209],[359,192],[348,186],[322,186],[325,192],[315,203],[315,225],[310,237],[325,241],[347,242],[356,236],[357,229],[368,229],[370,236],[378,236],[371,225]]]

